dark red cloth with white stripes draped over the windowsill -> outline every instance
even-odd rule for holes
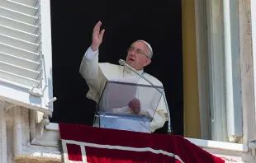
[[[59,123],[64,161],[224,163],[180,136]]]

